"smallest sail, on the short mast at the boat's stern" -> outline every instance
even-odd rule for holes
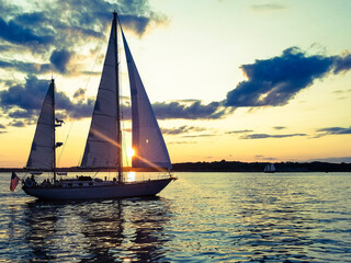
[[[26,163],[29,169],[53,170],[54,114],[54,83],[52,82],[37,119],[31,153]]]

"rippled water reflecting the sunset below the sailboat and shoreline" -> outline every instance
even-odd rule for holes
[[[159,197],[38,202],[0,173],[0,262],[351,262],[351,173],[178,173]]]

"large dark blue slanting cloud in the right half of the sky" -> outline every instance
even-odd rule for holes
[[[279,106],[286,104],[302,89],[331,71],[335,57],[307,56],[297,47],[282,56],[242,65],[248,80],[227,93],[225,104],[241,106]]]

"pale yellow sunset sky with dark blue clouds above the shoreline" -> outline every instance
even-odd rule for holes
[[[25,165],[52,76],[66,123],[57,129],[58,167],[80,164],[114,10],[173,163],[351,162],[349,0],[0,7],[0,167]]]

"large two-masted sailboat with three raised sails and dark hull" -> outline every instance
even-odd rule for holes
[[[118,87],[118,25],[131,87],[132,147],[135,151],[132,167],[168,171],[163,176],[154,180],[135,182],[124,180]],[[169,153],[116,12],[113,13],[107,52],[80,164],[82,169],[98,171],[117,169],[116,176],[112,181],[82,175],[63,180],[60,175],[64,174],[57,172],[56,169],[56,148],[63,142],[56,142],[55,139],[56,128],[63,123],[61,119],[55,117],[55,81],[53,79],[44,99],[26,163],[26,169],[32,171],[32,176],[27,178],[22,186],[26,194],[41,199],[152,196],[162,191],[171,181],[177,180],[170,173],[172,165]],[[36,183],[34,176],[37,171],[52,172],[52,181]]]

